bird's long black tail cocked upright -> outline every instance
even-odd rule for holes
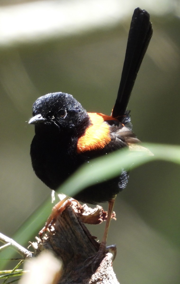
[[[136,8],[132,17],[127,41],[126,55],[121,75],[121,82],[112,117],[120,121],[125,115],[127,104],[133,89],[142,59],[152,37],[152,24],[147,11]]]

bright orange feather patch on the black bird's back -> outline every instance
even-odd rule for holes
[[[104,120],[114,120],[111,116],[88,112],[91,125],[83,136],[78,139],[77,152],[82,153],[103,149],[111,141],[109,125]]]

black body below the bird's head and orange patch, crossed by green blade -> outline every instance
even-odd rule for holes
[[[51,133],[48,129],[40,132],[36,129],[35,132],[30,150],[32,166],[38,178],[54,190],[82,164],[88,162],[90,165],[92,158],[125,146],[123,141],[112,137],[110,144],[114,143],[114,147],[107,145],[100,151],[77,153],[78,139],[76,137],[63,132]],[[106,202],[113,199],[119,191],[125,188],[127,180],[127,172],[123,172],[119,177],[110,180],[104,179],[100,183],[97,178],[94,185],[85,188],[73,197],[78,201],[91,204]]]

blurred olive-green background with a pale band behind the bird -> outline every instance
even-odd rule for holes
[[[30,161],[32,104],[62,91],[90,112],[111,114],[138,6],[154,34],[128,106],[133,130],[143,142],[179,144],[179,1],[0,1],[1,233],[13,237],[50,196]],[[121,284],[180,283],[179,184],[179,167],[167,162],[130,173],[107,243],[117,244]],[[99,239],[103,228],[89,226]]]

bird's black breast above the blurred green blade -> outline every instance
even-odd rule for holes
[[[36,133],[34,136],[30,149],[32,167],[38,178],[51,189],[57,189],[80,166],[76,152],[73,151],[75,144],[63,133]]]

